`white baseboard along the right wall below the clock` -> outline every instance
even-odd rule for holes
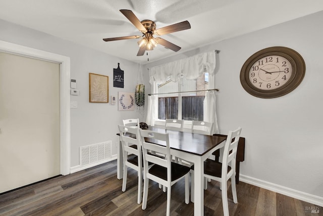
[[[309,193],[304,193],[298,190],[294,190],[288,187],[277,185],[271,182],[266,182],[263,180],[255,179],[245,175],[239,175],[239,180],[257,187],[261,187],[267,190],[274,191],[276,193],[284,194],[305,202],[309,202],[315,205],[323,206],[323,197],[315,196]]]

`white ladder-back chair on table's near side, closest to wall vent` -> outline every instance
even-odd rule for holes
[[[137,203],[142,200],[142,172],[143,160],[141,151],[141,142],[139,135],[139,127],[127,127],[119,125],[120,140],[122,142],[123,153],[123,181],[122,191],[126,191],[128,167],[134,169],[138,173],[138,197]]]

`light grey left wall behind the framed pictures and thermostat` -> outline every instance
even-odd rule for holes
[[[78,108],[71,109],[71,167],[79,165],[79,146],[112,140],[112,154],[116,154],[117,125],[122,124],[122,119],[142,120],[143,115],[137,111],[118,111],[118,104],[110,102],[89,103],[88,74],[109,76],[109,94],[118,98],[119,91],[135,91],[138,64],[3,20],[0,20],[0,29],[0,40],[70,57],[71,79],[77,80],[80,91],[78,96],[71,95],[71,101],[78,102]],[[102,45],[106,43],[103,41]],[[125,73],[124,88],[113,87],[113,69],[118,63]]]

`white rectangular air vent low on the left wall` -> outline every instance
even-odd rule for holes
[[[89,165],[111,158],[112,141],[100,142],[80,147],[80,164]]]

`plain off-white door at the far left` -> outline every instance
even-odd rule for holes
[[[60,64],[0,52],[0,193],[60,174]]]

